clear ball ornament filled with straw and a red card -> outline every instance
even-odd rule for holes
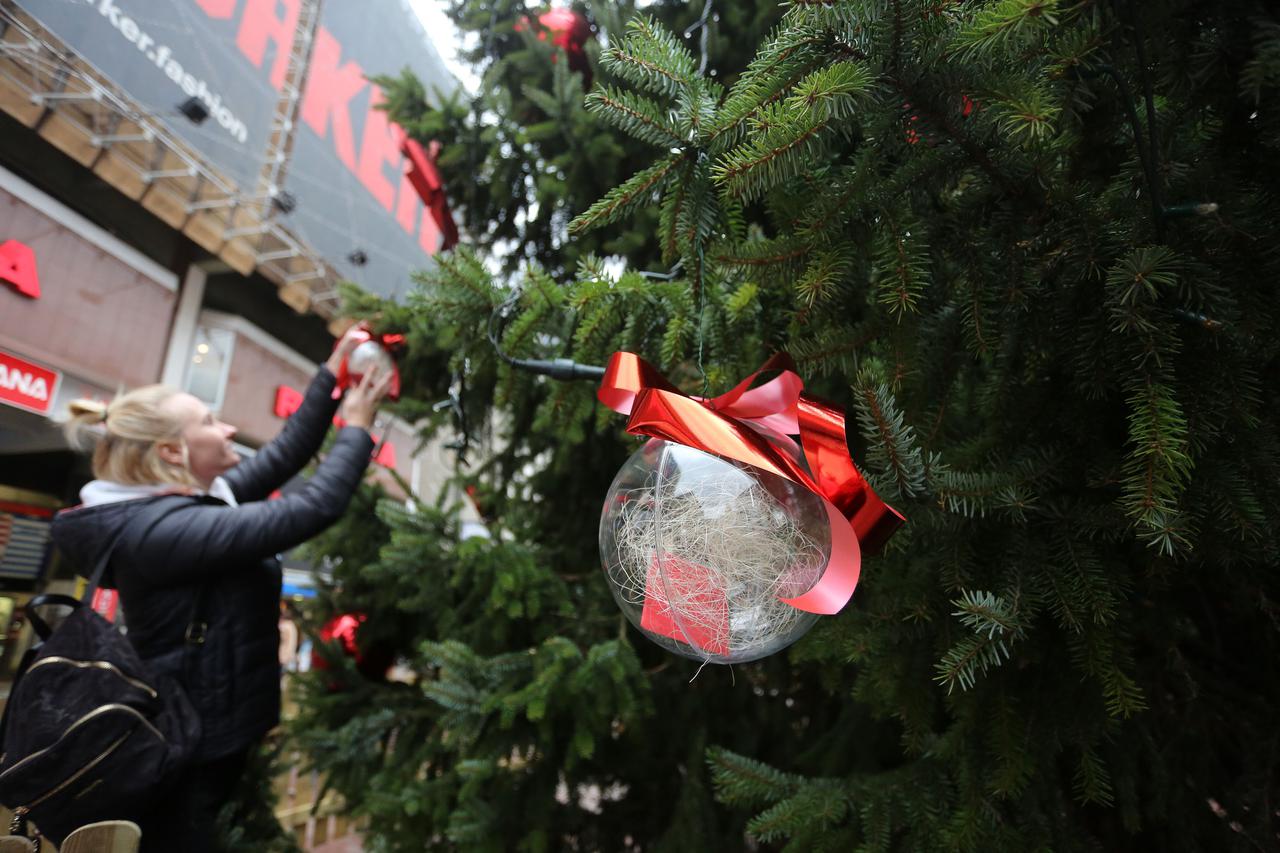
[[[799,457],[790,439],[768,438]],[[626,461],[600,515],[618,607],[654,643],[695,661],[755,661],[804,637],[818,616],[782,599],[808,592],[829,558],[818,496],[660,439]]]

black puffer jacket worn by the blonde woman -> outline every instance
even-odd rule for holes
[[[55,544],[88,573],[123,533],[105,576],[120,590],[129,640],[148,663],[182,683],[204,726],[196,761],[244,749],[280,719],[280,562],[333,524],[369,465],[372,439],[338,434],[307,484],[266,497],[319,450],[337,410],[334,377],[321,368],[298,411],[253,459],[227,473],[239,506],[211,496],[159,494],[65,510]],[[196,596],[209,628],[184,642]]]

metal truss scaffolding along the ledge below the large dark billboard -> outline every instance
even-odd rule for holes
[[[338,273],[280,222],[320,0],[305,0],[259,183],[246,191],[68,49],[0,0],[0,109],[230,269],[255,272],[294,311],[333,319]]]

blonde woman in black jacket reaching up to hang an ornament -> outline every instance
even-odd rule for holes
[[[343,337],[280,434],[244,462],[234,426],[164,386],[108,407],[72,405],[68,432],[96,437],[97,479],[81,491],[81,506],[56,516],[54,542],[86,570],[113,548],[104,585],[119,589],[129,640],[154,671],[186,688],[202,725],[193,766],[164,802],[140,804],[143,850],[216,849],[218,811],[250,749],[279,722],[276,555],[346,510],[390,375],[365,375],[347,392],[347,425],[303,487],[268,496],[320,448],[338,409],[334,375],[358,342]]]

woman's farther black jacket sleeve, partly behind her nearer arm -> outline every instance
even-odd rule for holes
[[[338,401],[333,398],[337,379],[321,366],[302,405],[284,423],[280,434],[266,443],[252,459],[247,459],[223,475],[232,493],[241,503],[261,501],[284,485],[315,456],[329,432]]]

